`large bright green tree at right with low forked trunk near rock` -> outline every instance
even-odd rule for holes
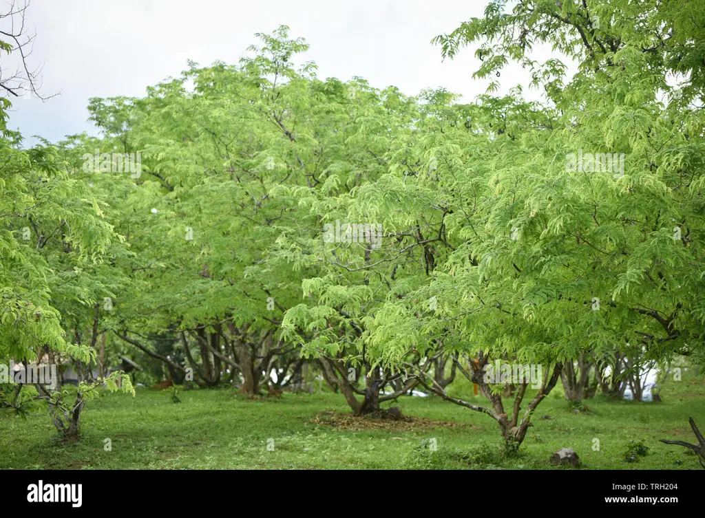
[[[458,352],[479,351],[480,367],[489,357],[554,365],[521,421],[521,397],[508,421],[491,388],[483,392],[493,409],[453,401],[491,414],[510,444],[521,443],[565,362],[587,353],[616,365],[630,344],[646,361],[702,358],[703,121],[692,107],[703,99],[693,43],[701,25],[690,17],[703,15],[692,3],[685,12],[673,2],[508,4],[491,2],[484,18],[435,41],[449,57],[479,44],[478,78],[519,61],[546,106],[521,101],[517,89],[481,96],[465,135],[459,117],[427,135],[426,158],[439,164],[427,177],[442,203],[426,211],[441,213],[458,242],[415,296],[436,297],[442,310],[421,322],[410,304],[390,302],[372,339],[386,343],[391,361],[412,346],[411,330],[441,333],[450,321],[446,347],[456,338]],[[577,61],[579,72],[567,81],[558,59],[532,61],[537,42]],[[667,73],[681,75],[682,94],[663,104],[659,96],[674,90]],[[475,365],[469,377],[481,381]]]

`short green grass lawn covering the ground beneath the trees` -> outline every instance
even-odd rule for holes
[[[484,403],[462,383],[454,389]],[[539,405],[534,428],[513,457],[501,454],[491,418],[437,397],[402,397],[388,405],[422,418],[402,423],[350,417],[343,396],[333,393],[266,400],[226,389],[178,395],[180,403],[168,390],[138,389],[134,398],[106,393],[88,403],[82,438],[70,445],[56,439],[46,412],[26,419],[0,414],[0,468],[563,469],[548,458],[565,447],[577,452],[583,469],[701,469],[688,450],[658,439],[693,443],[688,417],[705,431],[705,376],[692,373],[666,383],[661,403],[596,397],[583,413],[570,411],[558,387]],[[625,454],[639,441],[649,448],[646,455],[627,462]]]

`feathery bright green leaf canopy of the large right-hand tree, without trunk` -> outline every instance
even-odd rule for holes
[[[514,336],[540,330],[522,352],[545,342],[570,359],[581,347],[602,355],[631,342],[658,359],[701,357],[705,83],[695,63],[705,56],[702,9],[697,2],[523,1],[508,13],[505,4],[513,3],[492,2],[484,19],[437,41],[451,57],[477,42],[478,77],[510,60],[550,68],[534,80],[552,107],[508,110],[492,101],[497,154],[486,161],[489,171],[472,171],[483,176],[486,202],[478,205],[486,212],[460,223],[467,241],[445,283],[476,296],[486,323],[494,314]],[[566,80],[558,61],[537,66],[529,54],[537,42],[555,45],[580,71]],[[515,127],[517,116],[524,128]],[[568,156],[580,151],[623,154],[624,168],[570,171]],[[477,266],[463,268],[468,257]],[[461,271],[456,285],[450,279]],[[594,297],[599,311],[591,311]],[[489,333],[501,327],[485,326]]]

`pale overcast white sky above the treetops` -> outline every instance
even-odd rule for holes
[[[3,0],[5,2],[6,0]],[[469,101],[487,81],[472,79],[478,61],[467,49],[441,61],[431,38],[482,16],[487,0],[32,0],[27,26],[37,33],[33,67],[44,66],[47,96],[17,99],[9,127],[51,141],[84,130],[90,97],[142,96],[149,85],[176,77],[193,59],[235,63],[257,44],[255,32],[289,25],[310,44],[305,54],[321,79],[353,75],[406,94],[446,87]],[[548,56],[541,56],[546,58]],[[501,92],[527,75],[507,70]],[[527,93],[527,92],[526,92]],[[527,96],[527,97],[535,97]]]

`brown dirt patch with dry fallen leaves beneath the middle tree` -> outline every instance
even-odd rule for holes
[[[419,431],[434,428],[477,428],[470,423],[458,421],[437,421],[425,417],[402,417],[395,419],[380,419],[373,416],[354,416],[352,414],[338,414],[337,412],[323,412],[317,414],[309,422],[314,424],[327,424],[341,430],[388,430],[388,431]]]

